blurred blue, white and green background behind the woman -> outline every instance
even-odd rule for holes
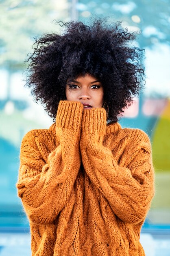
[[[145,49],[146,85],[119,123],[150,137],[156,194],[140,240],[146,256],[170,256],[170,0],[0,0],[0,256],[31,255],[15,187],[20,144],[29,130],[52,124],[24,88],[24,61],[35,36],[60,31],[54,20],[86,23],[92,15],[142,31],[135,45]]]

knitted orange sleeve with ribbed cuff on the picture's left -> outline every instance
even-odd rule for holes
[[[17,189],[27,216],[34,223],[52,222],[72,193],[81,164],[82,113],[81,103],[60,101],[56,117],[59,145],[48,155],[47,162],[40,153],[44,145],[38,135],[28,132],[22,140]]]

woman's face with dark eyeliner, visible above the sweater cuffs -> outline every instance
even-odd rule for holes
[[[68,101],[79,101],[84,105],[84,109],[102,108],[104,95],[102,84],[90,74],[68,80],[65,94]],[[85,107],[87,104],[91,107]]]

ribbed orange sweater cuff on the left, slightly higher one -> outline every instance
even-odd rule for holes
[[[81,127],[81,119],[83,115],[83,104],[78,101],[60,101],[56,126],[60,128],[79,130]]]

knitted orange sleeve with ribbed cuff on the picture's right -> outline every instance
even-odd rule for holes
[[[128,166],[119,165],[112,151],[103,146],[106,124],[103,108],[83,112],[80,140],[83,166],[113,213],[124,222],[138,223],[146,217],[155,193],[150,140],[138,129],[139,139],[133,139],[133,143],[129,140],[129,150],[122,155]]]

